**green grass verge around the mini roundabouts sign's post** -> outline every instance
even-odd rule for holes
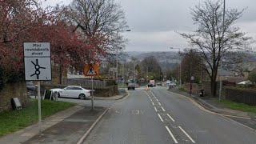
[[[42,101],[42,118],[46,118],[76,104],[59,101]],[[10,110],[0,113],[0,137],[21,130],[38,122],[38,101],[30,99],[22,110]]]

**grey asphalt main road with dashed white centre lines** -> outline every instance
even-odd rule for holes
[[[256,143],[256,133],[165,89],[137,89],[118,100],[85,144]]]

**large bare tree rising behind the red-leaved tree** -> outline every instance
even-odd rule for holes
[[[63,10],[66,22],[76,26],[83,37],[105,38],[104,46],[98,46],[106,54],[113,55],[116,48],[123,48],[126,39],[119,32],[127,28],[125,13],[114,0],[73,0]]]

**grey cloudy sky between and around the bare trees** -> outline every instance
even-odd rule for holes
[[[126,12],[126,21],[130,32],[123,35],[129,39],[127,51],[167,51],[172,47],[185,48],[186,39],[178,32],[192,32],[193,25],[190,8],[203,0],[115,0]],[[43,6],[54,6],[62,2],[68,4],[71,0],[48,0]],[[247,8],[242,18],[234,26],[239,26],[243,32],[256,39],[256,1],[226,0],[226,7],[242,10]]]

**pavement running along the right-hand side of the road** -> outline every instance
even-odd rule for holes
[[[215,102],[214,98],[199,97],[193,94],[189,95],[187,92],[178,90],[178,88],[169,89],[169,91],[177,94],[182,94],[189,98],[193,98],[195,102],[203,106],[206,110],[210,110],[218,114],[225,114],[225,115],[230,115],[230,116],[235,116],[240,118],[256,118],[256,114],[254,113],[248,113],[240,110],[232,110],[232,109],[226,108],[225,106],[222,106],[222,104]]]

